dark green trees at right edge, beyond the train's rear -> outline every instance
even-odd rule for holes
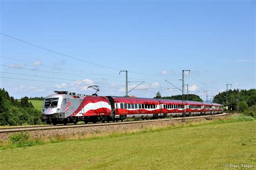
[[[228,110],[238,111],[253,117],[256,115],[256,89],[234,89],[221,92],[213,98],[213,102],[228,106]]]

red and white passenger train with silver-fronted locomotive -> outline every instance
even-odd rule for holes
[[[46,124],[97,123],[125,119],[158,119],[185,114],[223,113],[223,105],[200,101],[155,98],[89,96],[68,91],[55,91],[44,99],[41,119]]]

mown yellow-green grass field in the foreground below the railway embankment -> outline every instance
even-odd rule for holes
[[[1,169],[223,169],[256,166],[256,121],[164,128],[0,151]]]

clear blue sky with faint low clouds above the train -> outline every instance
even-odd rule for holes
[[[203,100],[255,88],[255,1],[0,2],[0,88],[17,99],[124,96],[124,70],[137,97],[181,94],[182,70]]]

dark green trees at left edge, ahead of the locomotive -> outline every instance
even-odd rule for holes
[[[28,97],[19,101],[0,89],[0,125],[38,125],[41,124],[40,115],[41,112],[33,107]]]

